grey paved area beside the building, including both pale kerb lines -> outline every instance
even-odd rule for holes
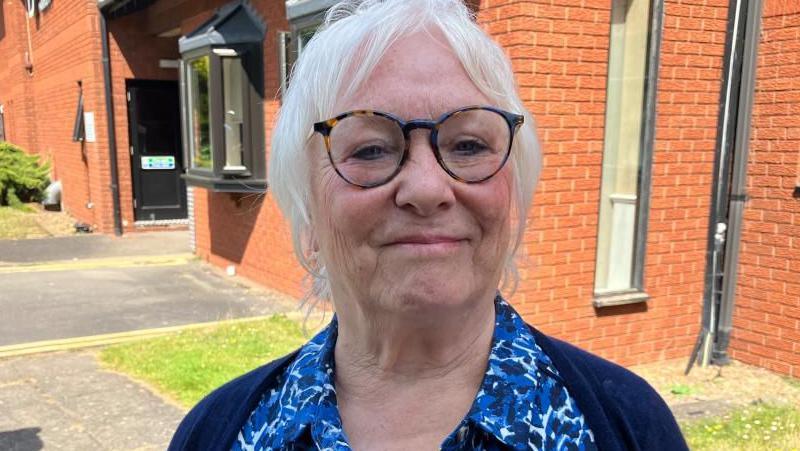
[[[262,316],[295,305],[195,260],[185,231],[0,240],[0,356],[9,345]]]

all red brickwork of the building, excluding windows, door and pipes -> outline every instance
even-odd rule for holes
[[[159,58],[177,57],[176,39],[223,1],[156,2],[110,22],[113,92],[123,218],[132,223],[125,80],[175,79]],[[525,238],[523,283],[513,298],[526,319],[625,364],[688,356],[700,323],[713,148],[727,0],[666,0],[660,53],[650,223],[645,260],[647,304],[594,309],[609,2],[483,0],[480,23],[512,58],[520,93],[534,113],[544,171]],[[797,7],[767,0],[759,60],[742,267],[732,345],[734,358],[798,375],[800,214],[798,183]],[[276,32],[288,28],[283,2],[257,2],[264,43],[267,144],[279,106]],[[30,20],[34,71],[20,2],[4,0],[0,102],[9,140],[51,156],[78,219],[113,229],[96,2],[62,0]],[[84,85],[98,141],[70,141]],[[35,100],[35,101],[34,101]],[[794,102],[794,103],[786,103]],[[286,223],[270,194],[195,189],[200,256],[292,295],[302,292]],[[93,209],[87,209],[91,200]],[[130,226],[128,227],[130,229]],[[766,295],[765,295],[766,293]],[[777,308],[776,308],[777,306]],[[788,343],[788,345],[787,345]],[[787,346],[791,348],[787,348]],[[794,359],[794,360],[792,360]]]

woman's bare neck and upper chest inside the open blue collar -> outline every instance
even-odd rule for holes
[[[439,446],[486,372],[492,299],[410,313],[337,309],[336,398],[353,449]]]

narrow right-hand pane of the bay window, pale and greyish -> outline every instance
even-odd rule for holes
[[[239,58],[222,58],[222,102],[225,116],[225,169],[244,169],[244,73]]]

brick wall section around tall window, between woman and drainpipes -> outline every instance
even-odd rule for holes
[[[610,2],[484,0],[512,58],[544,170],[514,303],[547,332],[625,364],[688,356],[700,324],[727,1],[667,0],[644,289],[594,309]]]

